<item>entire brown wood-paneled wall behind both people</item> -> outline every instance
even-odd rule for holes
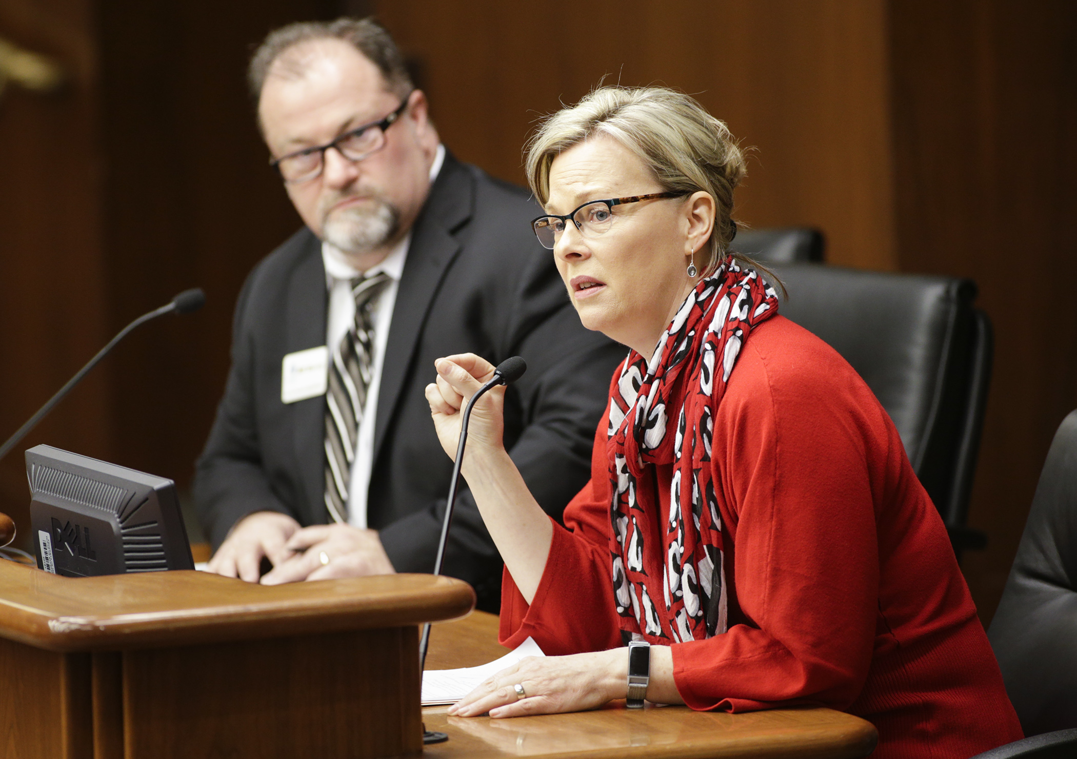
[[[596,83],[693,93],[753,147],[738,216],[822,228],[835,264],[973,277],[997,334],[964,571],[989,620],[1054,428],[1077,407],[1077,4],[1068,0],[5,0],[66,92],[0,99],[0,438],[177,292],[27,440],[190,483],[232,307],[298,225],[243,85],[289,20],[375,12],[462,158],[519,182],[534,120]],[[27,530],[22,456],[0,504]]]

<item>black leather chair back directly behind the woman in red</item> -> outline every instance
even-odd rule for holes
[[[778,266],[781,313],[834,347],[868,383],[950,531],[957,557],[982,548],[965,525],[993,333],[968,279]]]

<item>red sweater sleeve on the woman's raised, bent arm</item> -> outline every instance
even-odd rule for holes
[[[601,651],[621,645],[613,605],[610,498],[605,463],[609,409],[599,422],[591,479],[554,522],[554,540],[530,605],[504,570],[501,644],[515,648],[531,636],[548,656]]]

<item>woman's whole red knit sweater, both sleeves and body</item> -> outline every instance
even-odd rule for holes
[[[506,646],[621,645],[606,424],[530,606],[505,572]],[[729,630],[672,646],[685,703],[849,712],[878,729],[880,759],[964,758],[1021,737],[946,528],[890,417],[837,352],[780,315],[756,327],[714,420],[712,466]],[[656,475],[665,523],[672,469]]]

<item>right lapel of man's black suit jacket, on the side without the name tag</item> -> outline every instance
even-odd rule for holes
[[[408,376],[431,303],[449,264],[460,252],[460,243],[452,233],[471,217],[474,195],[475,183],[467,169],[446,152],[442,170],[412,228],[411,244],[396,292],[378,390],[375,463],[400,400],[401,388]],[[430,370],[433,371],[433,368]]]

